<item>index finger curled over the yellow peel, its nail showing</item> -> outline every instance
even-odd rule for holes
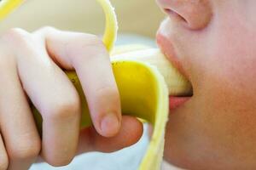
[[[119,91],[113,77],[108,51],[97,37],[49,29],[49,54],[66,69],[75,69],[84,89],[96,131],[105,137],[119,132]]]

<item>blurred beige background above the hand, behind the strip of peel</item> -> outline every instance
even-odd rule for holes
[[[154,0],[111,0],[118,14],[119,33],[154,37],[164,15]],[[55,26],[70,31],[102,34],[104,15],[96,0],[26,0],[0,25],[0,33],[11,27],[34,31]]]

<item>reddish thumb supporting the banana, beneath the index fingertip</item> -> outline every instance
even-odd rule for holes
[[[95,128],[84,128],[80,133],[78,154],[88,151],[112,152],[135,144],[143,134],[143,123],[132,116],[123,116],[122,126],[112,138],[102,137]]]

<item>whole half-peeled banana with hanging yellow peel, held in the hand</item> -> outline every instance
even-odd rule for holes
[[[0,3],[0,20],[3,20],[24,0],[3,0]],[[109,0],[97,0],[106,16],[106,28],[103,36],[108,51],[113,48],[118,24]],[[165,128],[168,118],[168,96],[191,94],[188,80],[168,62],[157,48],[143,45],[128,45],[114,48],[111,52],[113,73],[118,84],[122,112],[137,116],[154,125],[154,133],[148,144],[140,170],[157,170],[163,158]],[[91,126],[90,114],[79,78],[74,71],[67,71],[67,77],[79,92],[82,105],[81,127]],[[32,106],[38,130],[41,131],[42,117]]]

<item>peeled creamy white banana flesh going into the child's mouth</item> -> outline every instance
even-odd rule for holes
[[[131,46],[131,47],[130,47]],[[137,47],[137,48],[136,48]],[[190,82],[181,75],[177,69],[170,63],[164,54],[160,52],[158,48],[145,48],[142,45],[127,45],[122,46],[121,50],[125,53],[115,54],[116,50],[113,50],[111,60],[135,60],[143,61],[149,65],[154,65],[160,71],[161,75],[165,78],[169,95],[184,96],[191,95],[192,86]],[[131,48],[130,52],[129,49]],[[132,51],[136,49],[135,51]],[[120,49],[118,49],[120,50]]]

